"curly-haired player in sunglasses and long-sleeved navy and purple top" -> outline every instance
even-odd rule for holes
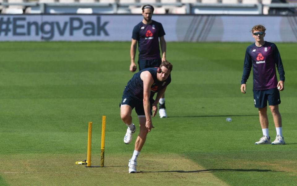
[[[284,90],[285,71],[278,47],[274,43],[264,40],[266,28],[255,25],[252,36],[255,43],[247,47],[241,80],[241,92],[246,93],[246,82],[253,68],[253,94],[254,104],[259,110],[260,124],[263,132],[262,138],[255,144],[285,144],[282,136],[282,117],[278,105],[281,103],[279,91]],[[276,74],[276,67],[280,81]],[[276,128],[276,138],[271,143],[268,131],[267,101],[273,115]]]

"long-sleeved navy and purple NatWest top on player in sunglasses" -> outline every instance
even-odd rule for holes
[[[245,84],[253,67],[253,90],[277,88],[278,79],[275,66],[281,81],[285,81],[285,71],[278,48],[274,43],[265,41],[262,47],[255,43],[247,47],[243,64],[241,84]]]

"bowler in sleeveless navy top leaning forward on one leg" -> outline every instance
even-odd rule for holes
[[[136,173],[137,157],[145,143],[147,134],[152,130],[152,115],[157,113],[157,104],[171,82],[172,64],[163,61],[160,67],[147,68],[135,73],[125,86],[120,104],[121,118],[128,126],[124,143],[130,144],[136,126],[132,122],[132,109],[138,115],[140,131],[135,142],[133,155],[129,161],[129,173]],[[157,93],[156,100],[153,97]],[[153,113],[152,113],[153,109]]]

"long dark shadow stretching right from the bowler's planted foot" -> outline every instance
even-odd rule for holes
[[[198,172],[279,172],[267,169],[206,169],[206,170],[166,170],[166,171],[148,171],[148,172],[178,172],[178,173],[198,173]],[[145,172],[145,171],[140,171]]]

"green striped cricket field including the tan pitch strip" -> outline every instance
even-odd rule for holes
[[[172,82],[168,118],[155,128],[128,174],[133,142],[123,143],[119,115],[130,42],[1,42],[0,185],[295,185],[297,183],[296,43],[276,43],[285,69],[280,112],[286,145],[255,145],[262,136],[252,74],[240,92],[250,43],[167,43]],[[105,166],[100,164],[106,115]],[[268,111],[270,136],[276,131]],[[132,115],[138,125],[136,113]],[[231,117],[232,122],[226,122]],[[136,125],[136,126],[137,126]],[[295,184],[294,184],[295,183]]]

